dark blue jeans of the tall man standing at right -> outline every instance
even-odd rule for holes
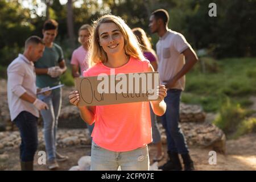
[[[170,89],[164,98],[166,102],[166,113],[161,117],[162,124],[166,130],[168,151],[187,154],[188,147],[182,130],[179,126],[181,90]]]

